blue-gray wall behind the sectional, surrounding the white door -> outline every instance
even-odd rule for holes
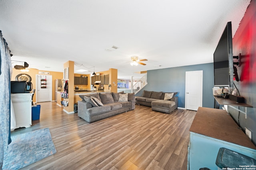
[[[140,90],[136,96],[141,96],[143,90],[156,92],[178,92],[178,107],[185,108],[186,71],[197,70],[203,70],[202,106],[214,108],[214,97],[212,94],[212,88],[214,87],[213,63],[148,70],[148,84]]]

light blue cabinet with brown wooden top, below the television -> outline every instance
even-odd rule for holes
[[[221,147],[256,159],[256,147],[228,112],[199,107],[190,127],[188,170],[217,170],[215,162]]]

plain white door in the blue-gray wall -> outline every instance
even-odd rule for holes
[[[196,110],[202,107],[203,70],[186,72],[186,109]]]

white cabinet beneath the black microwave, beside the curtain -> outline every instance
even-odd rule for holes
[[[31,102],[33,93],[11,94],[16,128],[32,125]]]

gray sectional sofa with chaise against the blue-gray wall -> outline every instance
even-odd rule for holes
[[[178,108],[178,92],[154,92],[144,90],[141,97],[136,97],[138,105],[150,106],[153,111],[171,113]]]

